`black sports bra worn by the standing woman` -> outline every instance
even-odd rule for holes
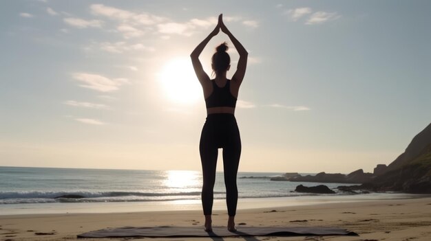
[[[231,93],[231,80],[227,80],[226,84],[224,84],[224,87],[221,88],[215,84],[215,80],[211,80],[211,82],[213,82],[213,93],[211,93],[211,95],[205,99],[207,108],[221,106],[235,108],[237,99],[233,97]]]

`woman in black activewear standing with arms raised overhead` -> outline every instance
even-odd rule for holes
[[[215,78],[211,80],[202,69],[199,55],[207,43],[217,35],[220,30],[227,34],[240,54],[238,67],[232,79],[228,80],[226,73],[231,67],[230,57],[227,54],[227,43],[222,43],[216,48],[211,58],[211,67]],[[205,231],[212,231],[211,212],[213,208],[213,188],[215,183],[215,168],[217,165],[218,148],[223,148],[224,184],[226,185],[226,201],[229,214],[227,229],[235,229],[235,212],[238,203],[238,188],[236,176],[240,163],[241,139],[238,125],[235,120],[235,104],[238,91],[247,65],[248,53],[241,43],[229,32],[222,20],[222,14],[218,17],[215,29],[202,41],[191,53],[191,62],[198,76],[198,80],[204,91],[204,99],[207,105],[207,120],[200,136],[200,159],[202,162],[202,207],[205,216]]]

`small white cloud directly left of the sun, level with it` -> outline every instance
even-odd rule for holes
[[[72,77],[78,82],[82,82],[82,84],[78,84],[80,87],[101,92],[118,91],[123,84],[129,83],[124,78],[109,79],[93,73],[74,73]]]

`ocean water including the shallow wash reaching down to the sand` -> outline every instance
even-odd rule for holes
[[[351,196],[339,192],[326,195],[297,193],[294,190],[300,184],[324,184],[331,189],[346,184],[270,180],[271,177],[282,174],[239,172],[239,203],[254,200],[247,207],[257,207],[258,205],[253,206],[255,200],[265,200],[268,203],[269,200],[282,198],[286,203],[290,198],[301,203],[302,200],[317,200],[317,196],[320,200],[323,196],[339,196],[337,200],[343,199],[341,196]],[[0,167],[0,215],[58,213],[69,209],[92,211],[94,208],[101,211],[100,207],[105,207],[108,211],[116,207],[133,209],[136,206],[140,210],[157,210],[165,209],[167,203],[171,209],[184,209],[187,204],[191,209],[198,209],[201,187],[202,174],[196,171]],[[223,173],[217,172],[215,203],[222,203],[225,196]],[[106,205],[107,203],[111,205]]]

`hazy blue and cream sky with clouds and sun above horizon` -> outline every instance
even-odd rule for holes
[[[189,54],[249,51],[240,172],[372,172],[431,122],[430,1],[0,1],[0,166],[200,170]],[[210,58],[222,34],[200,60]],[[221,155],[218,170],[222,170]]]

